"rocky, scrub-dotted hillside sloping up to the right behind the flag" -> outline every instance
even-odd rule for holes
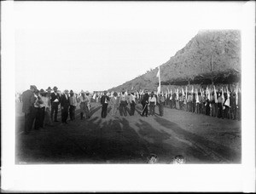
[[[161,81],[195,77],[201,73],[241,71],[241,33],[236,30],[199,31],[187,45],[160,66]],[[158,67],[109,90],[157,88]]]

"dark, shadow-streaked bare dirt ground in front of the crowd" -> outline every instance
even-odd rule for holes
[[[32,130],[24,134],[22,103],[16,104],[16,164],[51,163],[171,163],[182,155],[186,163],[241,163],[241,122],[165,108],[164,117],[101,118],[92,103],[90,119]],[[108,109],[109,111],[109,109]],[[128,110],[129,111],[129,110]],[[59,114],[59,120],[61,120]]]

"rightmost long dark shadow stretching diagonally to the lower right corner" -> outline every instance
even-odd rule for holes
[[[162,117],[155,117],[154,120],[157,123],[160,123],[160,125],[170,128],[170,130],[176,134],[182,135],[184,139],[192,141],[193,144],[202,145],[202,147],[205,146],[207,149],[215,151],[218,155],[226,159],[227,163],[241,163],[241,152],[237,153],[236,151],[230,149],[230,147],[220,145],[211,140],[206,140],[197,134],[193,134],[187,130],[184,130],[183,128],[180,128],[176,123],[172,123]],[[214,158],[212,158],[211,161],[214,163]]]

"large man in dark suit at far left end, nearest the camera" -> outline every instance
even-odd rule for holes
[[[35,96],[34,92],[37,90],[37,87],[32,85],[30,89],[27,89],[25,92],[22,93],[22,112],[25,113],[25,134],[29,134],[32,128],[32,114],[34,113],[34,103],[35,103]]]

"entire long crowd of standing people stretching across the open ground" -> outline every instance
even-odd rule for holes
[[[61,123],[67,124],[67,118],[75,120],[75,111],[79,106],[80,119],[90,118],[90,103],[94,101],[102,106],[101,117],[134,116],[136,105],[142,104],[140,111],[142,117],[156,116],[155,108],[159,108],[159,116],[164,116],[164,107],[170,107],[181,111],[205,114],[211,117],[241,119],[241,91],[236,88],[230,91],[228,88],[194,88],[192,90],[176,88],[174,92],[169,90],[164,94],[147,89],[140,91],[121,92],[94,92],[81,90],[75,94],[73,90],[67,89],[61,93],[57,87],[51,89],[38,88],[34,85],[20,94],[16,100],[23,102],[22,111],[25,113],[25,134],[34,129],[53,126],[58,121],[58,111],[61,108]],[[129,114],[128,114],[129,113]],[[34,125],[33,125],[34,123]]]

